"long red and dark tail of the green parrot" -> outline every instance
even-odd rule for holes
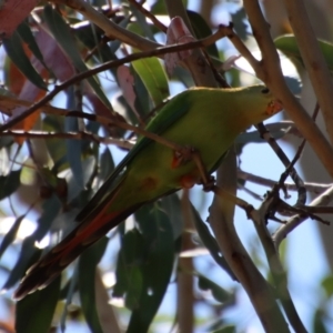
[[[13,297],[20,300],[27,294],[47,286],[88,246],[100,240],[142,204],[134,204],[124,211],[111,213],[108,212],[109,205],[107,205],[92,220],[88,216],[85,221],[82,221],[57,246],[28,270]]]

